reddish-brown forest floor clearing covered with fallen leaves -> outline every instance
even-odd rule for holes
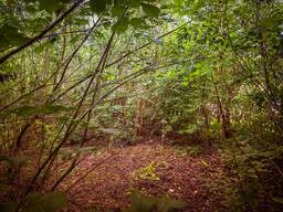
[[[143,168],[150,163],[151,176],[144,176]],[[66,167],[65,162],[61,166]],[[92,206],[118,211],[129,204],[133,189],[181,199],[188,203],[185,211],[227,211],[221,198],[227,174],[224,162],[212,149],[188,156],[172,146],[144,142],[85,155],[60,189],[67,193],[69,211]]]

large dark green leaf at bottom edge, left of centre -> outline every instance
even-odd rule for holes
[[[67,201],[62,192],[33,192],[28,194],[25,203],[27,212],[56,212],[66,206]]]

